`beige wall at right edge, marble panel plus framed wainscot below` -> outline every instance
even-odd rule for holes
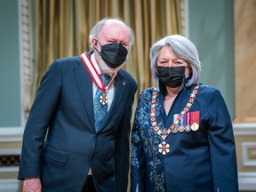
[[[234,3],[237,165],[256,185],[256,0]]]

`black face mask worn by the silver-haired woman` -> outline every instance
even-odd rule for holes
[[[180,67],[157,67],[158,79],[166,86],[175,88],[182,84],[185,77],[185,66]]]

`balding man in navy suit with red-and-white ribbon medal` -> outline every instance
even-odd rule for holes
[[[124,21],[100,20],[92,52],[48,68],[23,136],[23,191],[127,191],[137,84],[122,66],[133,39]]]

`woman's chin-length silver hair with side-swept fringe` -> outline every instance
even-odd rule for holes
[[[196,84],[199,80],[201,72],[201,63],[199,60],[199,55],[196,49],[195,44],[193,44],[188,38],[180,35],[165,36],[153,44],[150,48],[149,58],[150,58],[150,68],[152,75],[158,84],[157,78],[157,60],[160,53],[160,50],[164,46],[169,46],[172,51],[177,55],[181,60],[186,60],[188,62],[188,68],[191,70],[191,77],[186,86],[191,84]]]

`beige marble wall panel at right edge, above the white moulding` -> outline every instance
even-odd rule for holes
[[[256,123],[256,1],[235,0],[236,122]]]

